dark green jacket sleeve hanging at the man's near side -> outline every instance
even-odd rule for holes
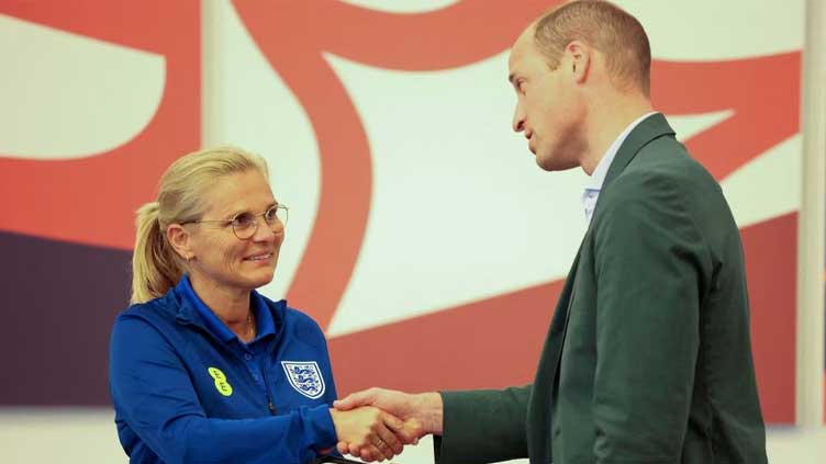
[[[711,253],[662,176],[617,179],[595,237],[598,463],[679,462]]]

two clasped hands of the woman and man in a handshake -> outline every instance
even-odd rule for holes
[[[330,410],[342,454],[366,462],[390,460],[405,444],[428,434],[442,434],[442,396],[406,394],[382,388],[354,393]]]

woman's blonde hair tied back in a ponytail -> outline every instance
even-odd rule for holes
[[[136,212],[135,250],[132,253],[132,298],[144,303],[178,284],[187,262],[169,245],[169,224],[194,220],[208,205],[205,191],[224,176],[255,170],[269,179],[260,156],[236,147],[216,147],[186,155],[160,177],[158,197]]]

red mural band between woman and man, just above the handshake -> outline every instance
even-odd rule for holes
[[[423,392],[528,384],[561,291],[562,281],[555,281],[335,337],[330,349],[338,395],[371,386]]]

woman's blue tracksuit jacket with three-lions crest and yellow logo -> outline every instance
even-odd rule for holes
[[[335,445],[326,341],[309,316],[250,296],[245,344],[189,280],[114,322],[109,382],[131,463],[303,464]]]

